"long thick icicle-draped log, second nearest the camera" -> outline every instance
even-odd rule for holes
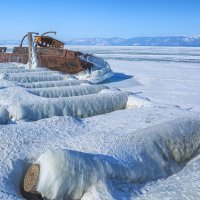
[[[9,107],[16,120],[39,120],[53,116],[90,117],[124,109],[127,93],[92,94],[58,99],[39,99],[33,102],[15,103]]]

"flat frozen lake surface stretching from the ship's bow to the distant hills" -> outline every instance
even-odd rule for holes
[[[105,58],[115,72],[106,84],[152,101],[200,109],[200,48],[67,46]],[[109,83],[110,82],[110,83]]]

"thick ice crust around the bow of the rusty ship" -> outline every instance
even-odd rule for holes
[[[88,80],[91,83],[100,83],[113,75],[110,65],[104,59],[93,55],[81,56],[81,59],[92,63],[93,67],[77,74],[76,77],[78,79]]]

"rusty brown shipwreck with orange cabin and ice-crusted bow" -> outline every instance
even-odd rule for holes
[[[97,74],[100,69],[99,74],[105,73],[103,79],[110,77],[112,71],[106,61],[91,54],[64,49],[64,43],[46,35],[49,33],[56,34],[56,32],[52,31],[41,35],[35,32],[28,32],[22,38],[20,45],[14,47],[11,53],[6,52],[7,47],[0,47],[0,63],[28,63],[31,69],[34,51],[39,67],[46,67],[67,74],[77,74],[85,71],[90,73],[95,71],[95,74]],[[32,38],[33,34],[36,34],[34,39]],[[28,37],[28,46],[23,46],[23,41],[26,37]]]

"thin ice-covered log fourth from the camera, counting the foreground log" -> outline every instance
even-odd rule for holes
[[[48,88],[48,87],[59,87],[59,86],[71,86],[80,85],[82,83],[88,83],[84,80],[63,80],[63,81],[42,81],[33,83],[21,83],[19,84],[25,88]]]

